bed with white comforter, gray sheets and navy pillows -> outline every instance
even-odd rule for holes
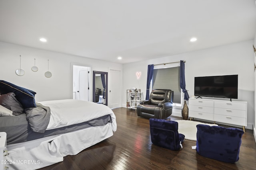
[[[31,100],[33,104],[24,108],[26,104],[17,100],[18,93],[9,89],[4,94],[1,83],[2,80],[0,106],[10,108],[12,113],[3,115],[0,108],[0,131],[7,133],[8,154],[4,157],[9,170],[34,170],[61,162],[64,156],[78,154],[116,131],[116,117],[108,106],[66,99]],[[20,114],[16,110],[17,102],[24,109]]]

